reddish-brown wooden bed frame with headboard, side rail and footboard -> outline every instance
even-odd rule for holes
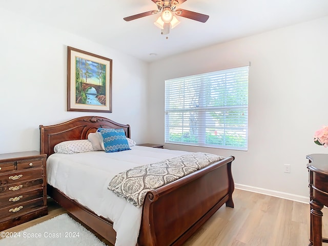
[[[102,128],[122,128],[130,138],[129,125],[98,116],[78,117],[53,126],[39,126],[40,153],[47,156],[61,141],[87,139]],[[181,245],[224,203],[233,208],[234,181],[231,173],[233,156],[215,162],[172,183],[149,191],[142,207],[138,246]],[[48,185],[48,195],[61,207],[115,244],[113,222],[96,215],[64,193]],[[128,235],[127,235],[128,236]]]

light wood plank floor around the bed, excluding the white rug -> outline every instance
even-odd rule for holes
[[[307,246],[310,205],[236,189],[235,208],[220,208],[183,246]],[[49,214],[6,232],[18,232],[65,213],[48,201]],[[328,235],[328,209],[323,212],[323,235]],[[326,216],[325,216],[326,215]],[[103,239],[108,245],[112,245]]]

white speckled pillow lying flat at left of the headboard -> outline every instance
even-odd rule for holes
[[[63,154],[75,154],[94,151],[93,146],[88,139],[59,142],[59,144],[55,145],[53,150],[55,153]]]

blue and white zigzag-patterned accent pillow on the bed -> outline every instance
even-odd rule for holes
[[[107,153],[131,150],[123,129],[98,128],[98,131],[104,138]]]

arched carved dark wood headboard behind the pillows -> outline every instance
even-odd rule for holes
[[[99,116],[82,116],[57,125],[40,125],[40,153],[47,157],[54,153],[53,148],[59,142],[87,139],[88,134],[98,128],[122,128],[125,135],[131,137],[130,125],[122,125],[108,118]]]

